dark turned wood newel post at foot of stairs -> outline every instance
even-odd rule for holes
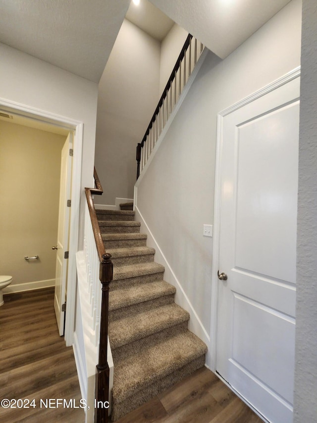
[[[109,305],[109,284],[113,277],[113,264],[110,260],[111,254],[104,254],[100,263],[99,278],[102,283],[102,306],[100,316],[100,345],[99,363],[96,366],[96,404],[95,423],[108,422],[109,402],[109,366],[107,363],[108,343],[108,305]]]

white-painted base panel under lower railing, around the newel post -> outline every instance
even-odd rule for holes
[[[82,398],[87,401],[88,409],[85,409],[86,423],[93,422],[94,418],[94,399],[95,399],[95,380],[96,365],[99,358],[99,334],[93,329],[93,318],[90,314],[91,306],[89,304],[89,293],[87,283],[87,273],[85,267],[84,252],[76,253],[78,290],[79,290],[79,307],[82,324],[82,337],[84,340],[84,349],[79,345],[76,332],[74,333],[74,356],[78,373],[80,391]],[[102,287],[100,287],[101,289]],[[78,330],[78,328],[76,328]],[[97,341],[96,341],[97,336]],[[108,339],[107,362],[109,365],[109,392],[113,386],[113,360],[111,348]],[[109,415],[111,413],[111,396],[109,396]]]

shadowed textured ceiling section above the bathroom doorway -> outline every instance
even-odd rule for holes
[[[0,42],[99,82],[130,0],[0,0]]]

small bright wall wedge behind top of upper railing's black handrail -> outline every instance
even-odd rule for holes
[[[186,41],[188,32],[175,23],[160,46],[159,95],[163,93],[171,71]]]

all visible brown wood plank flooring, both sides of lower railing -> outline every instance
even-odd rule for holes
[[[0,422],[84,423],[72,348],[58,335],[53,290],[6,295],[0,307],[0,400],[22,399],[29,408],[0,407]],[[52,399],[51,408],[47,399]],[[42,403],[41,403],[42,400]],[[72,403],[69,401],[72,400]],[[42,406],[42,407],[41,407]],[[117,423],[262,423],[210,370],[203,367]]]

